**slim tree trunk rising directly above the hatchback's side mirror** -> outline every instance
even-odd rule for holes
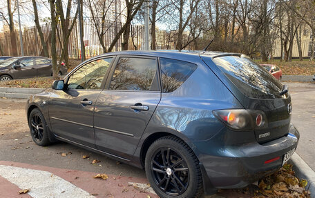
[[[51,59],[53,63],[53,78],[59,79],[57,68],[57,52],[56,52],[56,17],[55,17],[55,0],[49,0],[50,4],[50,17],[51,17]]]

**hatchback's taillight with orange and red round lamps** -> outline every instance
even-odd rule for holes
[[[261,110],[213,110],[222,123],[233,130],[255,130],[267,127],[267,118]]]

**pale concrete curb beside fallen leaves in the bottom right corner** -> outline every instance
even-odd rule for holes
[[[292,155],[291,159],[289,160],[292,165],[293,169],[296,172],[296,176],[299,179],[306,179],[307,186],[305,190],[309,190],[311,192],[311,197],[315,198],[315,172],[310,168],[306,162],[296,153]]]

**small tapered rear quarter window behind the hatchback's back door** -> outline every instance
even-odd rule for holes
[[[173,92],[195,71],[197,66],[186,61],[160,59],[163,92]]]

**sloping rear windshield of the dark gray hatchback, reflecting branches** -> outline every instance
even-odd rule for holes
[[[249,57],[216,57],[213,62],[247,97],[280,98],[281,83]]]

